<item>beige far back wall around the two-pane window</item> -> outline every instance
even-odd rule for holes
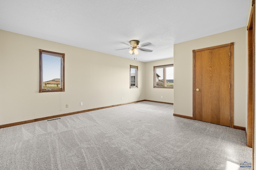
[[[173,102],[173,88],[153,88],[154,86],[154,66],[160,66],[165,64],[173,64],[173,58],[152,61],[146,63],[146,71],[145,71],[145,88],[146,88],[146,100],[154,100],[158,102]],[[175,67],[175,65],[174,65]],[[174,80],[174,88],[176,86]],[[163,96],[163,98],[161,98]]]

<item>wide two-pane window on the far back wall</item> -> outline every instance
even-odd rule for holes
[[[173,88],[173,64],[154,66],[154,88]]]

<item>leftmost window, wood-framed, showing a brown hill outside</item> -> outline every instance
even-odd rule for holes
[[[39,49],[39,93],[64,92],[64,53]]]

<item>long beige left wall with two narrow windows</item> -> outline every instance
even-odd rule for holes
[[[143,62],[8,31],[0,37],[0,125],[146,99]],[[38,49],[65,53],[65,92],[38,92]],[[129,88],[130,64],[139,88]]]

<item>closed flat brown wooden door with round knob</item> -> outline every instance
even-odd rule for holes
[[[194,119],[230,126],[230,44],[193,51]],[[232,117],[233,118],[233,117]]]

